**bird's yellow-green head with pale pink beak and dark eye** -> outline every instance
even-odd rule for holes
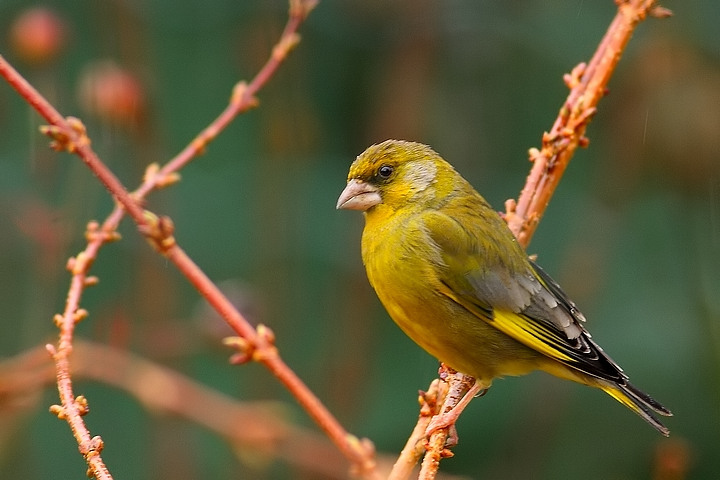
[[[454,188],[457,173],[427,145],[386,140],[361,153],[350,166],[337,208],[364,212],[432,206]]]

